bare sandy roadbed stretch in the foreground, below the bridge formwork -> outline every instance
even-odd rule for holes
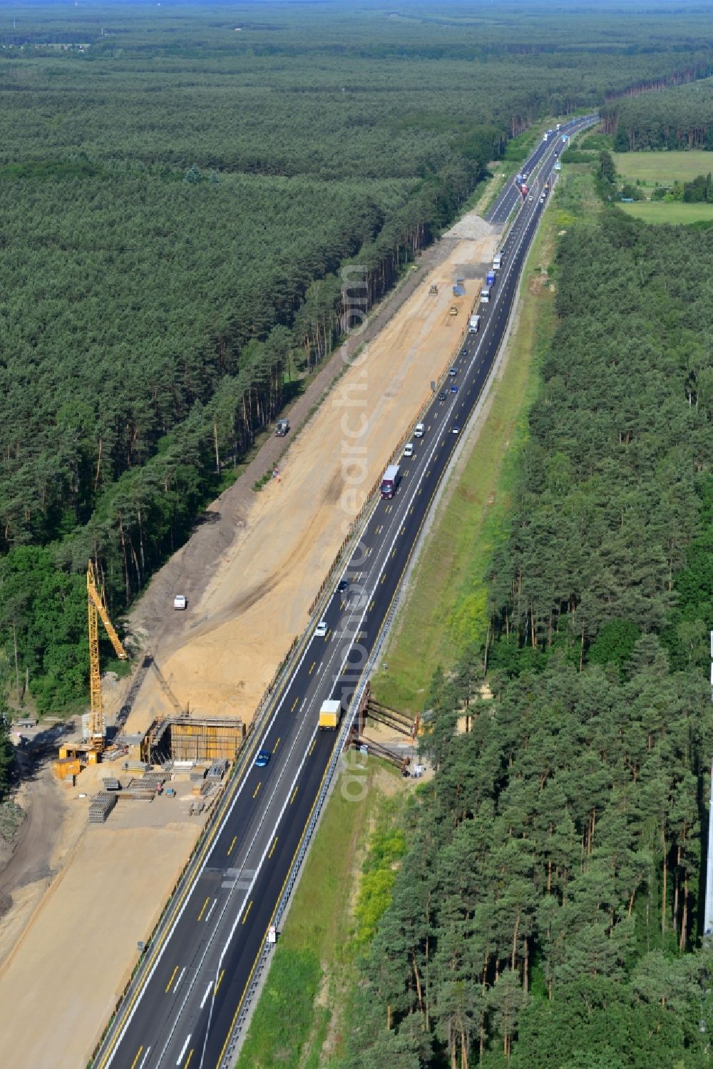
[[[198,831],[87,830],[0,973],[3,1069],[87,1064]]]

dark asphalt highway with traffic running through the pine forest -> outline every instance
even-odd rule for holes
[[[586,120],[577,121],[578,125]],[[572,133],[574,124],[563,131]],[[559,138],[541,143],[524,164],[551,179]],[[537,186],[534,187],[538,188]],[[489,219],[505,222],[522,202],[509,185]],[[480,332],[469,336],[454,374],[436,389],[414,455],[399,461],[392,499],[375,502],[342,576],[322,613],[324,637],[310,631],[276,693],[265,726],[254,732],[205,842],[143,956],[94,1067],[216,1069],[243,1006],[276,904],[310,820],[336,734],[316,729],[325,698],[344,707],[379,638],[444,472],[464,433],[508,325],[520,274],[542,205],[522,204],[501,246],[502,267]],[[359,417],[355,416],[358,425]],[[337,589],[340,578],[346,590]],[[254,764],[266,750],[264,768]]]

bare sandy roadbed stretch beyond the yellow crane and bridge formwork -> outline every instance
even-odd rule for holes
[[[233,521],[232,542],[208,574],[201,562],[200,592],[196,590],[185,616],[175,614],[181,619],[170,621],[181,631],[165,632],[154,648],[181,706],[250,721],[276,666],[307,625],[308,608],[353,518],[345,483],[353,478],[365,491],[372,486],[466,326],[497,239],[482,220],[479,230],[479,239],[441,243],[449,248],[445,262],[421,279],[368,344],[358,367],[348,368],[292,441],[280,464],[279,482],[273,480],[252,495],[242,523]],[[466,277],[465,297],[453,298],[456,275]],[[437,296],[429,294],[434,281]],[[453,304],[459,306],[456,316],[449,315]],[[362,425],[365,433],[356,434]],[[354,445],[361,454],[351,467],[348,450]],[[220,523],[226,508],[230,510],[227,502]],[[164,617],[167,613],[171,615],[166,608]],[[154,716],[169,711],[155,675],[148,673],[126,728],[143,731]]]

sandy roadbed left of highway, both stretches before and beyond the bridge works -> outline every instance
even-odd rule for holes
[[[374,315],[371,330],[379,319],[388,322],[358,360],[348,366],[336,354],[293,406],[290,419],[293,428],[301,427],[298,433],[266,443],[214,502],[207,517],[213,522],[203,523],[155,576],[130,628],[157,671],[135,679],[128,732],[145,730],[176,702],[250,721],[294,636],[307,626],[309,606],[363,492],[449,363],[498,236],[474,213],[429,249],[421,268]],[[456,276],[466,278],[460,298],[452,295]],[[430,294],[432,284],[437,295]],[[453,304],[455,316],[449,314]],[[366,337],[354,339],[350,352]],[[331,382],[331,392],[313,410]],[[279,482],[255,494],[252,482],[285,445]],[[188,594],[186,613],[172,610],[176,591]],[[115,708],[127,691],[128,683],[115,688]],[[82,784],[93,772],[82,773],[77,790],[95,789]],[[77,790],[69,806],[81,809]],[[162,827],[140,820],[115,826],[112,814],[106,825],[79,834],[0,967],[0,1005],[4,1020],[13,1022],[0,1029],[3,1069],[77,1069],[87,1063],[136,960],[137,941],[150,933],[198,834],[173,812]]]

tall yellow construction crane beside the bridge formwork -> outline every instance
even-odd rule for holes
[[[99,617],[120,661],[127,661],[128,653],[114,631],[104,604],[104,591],[96,585],[94,566],[87,564],[87,614],[89,617],[89,693],[91,712],[89,715],[89,738],[82,743],[60,746],[60,760],[55,762],[56,774],[60,778],[76,775],[86,764],[97,764],[106,748],[104,708],[102,704],[102,673],[99,671]],[[67,762],[67,763],[64,763]],[[64,775],[62,773],[64,772]]]

